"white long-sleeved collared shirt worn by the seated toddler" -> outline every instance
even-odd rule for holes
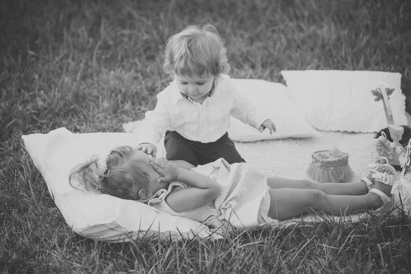
[[[157,105],[154,110],[146,112],[144,128],[138,134],[142,142],[149,142],[155,147],[167,129],[188,140],[214,142],[227,132],[230,116],[256,129],[268,119],[257,106],[251,105],[244,95],[234,90],[229,75],[221,75],[214,92],[202,104],[182,95],[174,81],[157,95]]]

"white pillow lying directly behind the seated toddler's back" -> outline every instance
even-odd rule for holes
[[[292,100],[290,90],[283,84],[267,82],[260,79],[232,79],[238,92],[246,95],[251,103],[258,105],[266,112],[277,127],[277,132],[270,135],[269,130],[258,129],[243,124],[238,119],[231,119],[228,129],[229,138],[238,142],[273,140],[281,138],[308,138],[321,136],[305,119],[301,110]],[[140,121],[123,124],[125,132],[140,127]],[[160,141],[160,144],[162,141]]]

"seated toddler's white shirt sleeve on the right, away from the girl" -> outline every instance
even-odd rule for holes
[[[227,86],[232,89],[232,95],[234,97],[233,108],[230,114],[242,121],[242,123],[258,129],[266,119],[269,119],[269,115],[262,112],[258,105],[253,105],[245,95],[235,90],[230,79],[227,79],[227,81]]]

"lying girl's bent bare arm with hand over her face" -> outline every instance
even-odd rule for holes
[[[221,192],[221,186],[207,176],[194,171],[177,169],[165,159],[153,158],[150,163],[169,182],[177,180],[192,186],[192,188],[184,188],[167,195],[166,203],[175,212],[201,208],[201,206],[211,203]]]

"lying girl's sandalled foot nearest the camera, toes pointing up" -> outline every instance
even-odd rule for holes
[[[369,193],[375,198],[375,208],[380,208],[391,201],[391,188],[397,180],[397,173],[390,164],[382,164],[372,177],[374,184]]]

